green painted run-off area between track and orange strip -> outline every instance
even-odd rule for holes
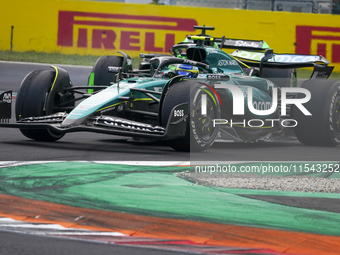
[[[339,213],[238,195],[340,199],[340,194],[205,187],[175,175],[188,170],[86,162],[22,165],[0,168],[0,193],[108,211],[340,235]]]

